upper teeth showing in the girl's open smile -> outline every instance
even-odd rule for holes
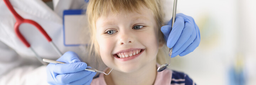
[[[140,50],[133,50],[133,51],[129,51],[129,52],[121,52],[121,53],[117,53],[119,58],[124,58],[124,57],[130,57],[130,56],[134,56],[138,53],[140,53]]]

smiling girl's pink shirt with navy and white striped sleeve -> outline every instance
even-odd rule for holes
[[[157,64],[157,66],[160,67],[159,64]],[[107,85],[104,79],[104,74],[101,73],[98,77],[94,78],[91,82],[91,85]],[[165,69],[162,72],[157,73],[154,85],[196,85],[196,84],[185,73],[177,72],[175,70]]]

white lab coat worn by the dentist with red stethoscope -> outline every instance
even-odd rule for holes
[[[95,61],[87,60],[86,50],[83,50],[83,47],[63,44],[63,10],[80,9],[84,0],[53,0],[54,11],[41,0],[10,0],[10,2],[21,17],[40,24],[62,53],[74,51],[88,66],[98,70],[104,69],[104,64],[95,64]],[[170,15],[165,21],[172,17],[172,6],[166,4],[164,8],[166,15]],[[46,66],[42,66],[34,53],[18,39],[14,32],[15,22],[4,1],[0,0],[0,85],[46,85]],[[59,58],[57,52],[35,27],[22,24],[20,32],[39,56],[52,60]]]

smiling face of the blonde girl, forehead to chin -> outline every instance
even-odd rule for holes
[[[97,19],[100,56],[108,67],[130,73],[156,62],[159,37],[153,12],[145,7],[139,12],[109,13]]]

